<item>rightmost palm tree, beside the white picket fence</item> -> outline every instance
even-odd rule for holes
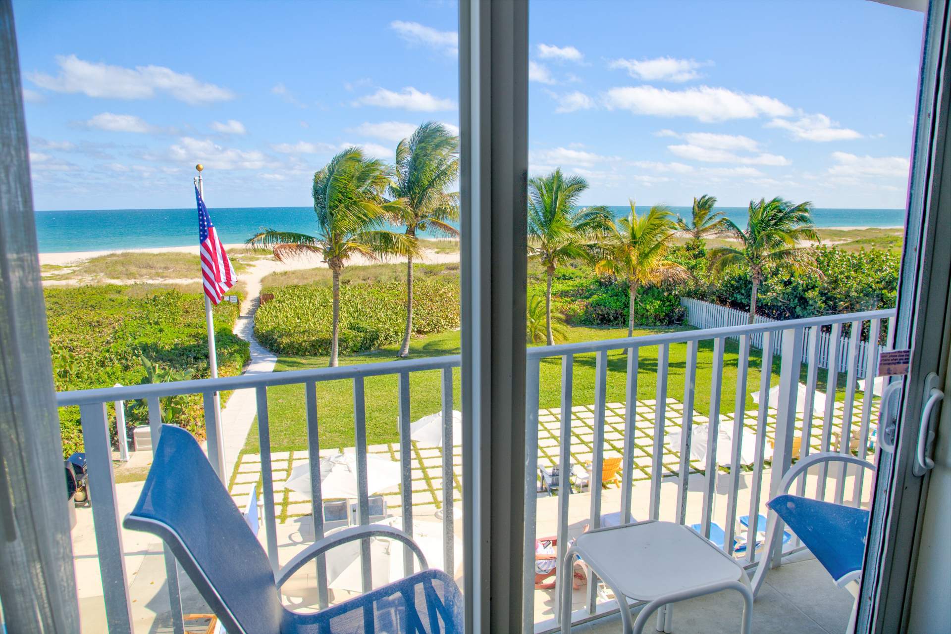
[[[801,240],[819,240],[812,224],[812,203],[793,204],[776,197],[767,202],[750,201],[746,231],[733,221],[724,225],[739,246],[721,246],[710,251],[710,262],[715,271],[729,266],[747,265],[752,290],[749,294],[749,323],[756,318],[756,294],[763,281],[763,267],[767,262],[778,262],[795,271],[815,270],[811,249],[797,246]]]

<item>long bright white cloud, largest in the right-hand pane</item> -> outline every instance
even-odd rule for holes
[[[793,114],[791,107],[772,97],[710,86],[683,90],[654,86],[615,87],[604,94],[604,103],[609,109],[630,110],[634,114],[693,117],[705,123]]]

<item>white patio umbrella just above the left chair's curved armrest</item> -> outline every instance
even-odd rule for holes
[[[398,462],[373,453],[367,454],[368,493],[373,494],[397,486],[399,475]],[[284,486],[303,495],[310,495],[310,461],[305,460],[295,465]],[[344,453],[320,458],[320,494],[324,499],[358,497],[356,454]]]

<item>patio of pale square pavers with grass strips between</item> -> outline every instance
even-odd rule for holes
[[[604,457],[621,457],[624,450],[624,403],[608,403],[605,410],[605,430],[604,430]],[[878,399],[874,402],[871,410],[871,421],[877,420]],[[558,408],[542,409],[538,413],[538,464],[539,466],[553,467],[558,462],[558,448],[560,446],[560,410]],[[650,471],[653,468],[654,457],[654,400],[639,400],[635,408],[634,424],[634,448],[633,448],[633,481],[649,480]],[[832,431],[841,437],[842,432],[843,403],[835,404],[835,413],[833,415]],[[857,430],[861,424],[862,403],[857,400],[852,414],[852,429]],[[757,411],[747,411],[744,422],[747,429],[756,432]],[[819,451],[822,438],[824,423],[821,419],[813,421],[812,432],[809,446],[810,451]],[[667,401],[667,413],[665,422],[665,436],[674,431],[679,431],[683,419],[683,405],[673,399]],[[721,413],[720,425],[731,425],[733,413]],[[708,417],[700,413],[693,413],[693,424],[707,423]],[[594,439],[594,406],[577,405],[572,408],[572,462],[576,464],[585,464],[592,459],[593,439]],[[796,418],[796,429],[802,433],[803,419],[802,414],[798,413]],[[767,412],[767,440],[775,439],[776,431],[776,411],[769,408]],[[413,506],[419,509],[421,513],[432,513],[441,507],[442,502],[442,450],[440,448],[418,447],[417,443],[412,443],[413,449],[413,467],[412,467],[412,500]],[[329,456],[339,453],[351,453],[353,447],[343,450],[321,450],[320,456]],[[388,457],[391,460],[399,460],[399,445],[397,443],[384,445],[370,445],[367,448],[369,453]],[[290,475],[291,469],[303,460],[309,459],[308,451],[277,451],[271,453],[271,469],[274,482],[274,502],[275,515],[279,523],[284,523],[288,519],[309,515],[311,512],[310,498],[296,491],[287,490],[284,485]],[[871,456],[869,456],[871,459]],[[663,476],[676,475],[680,464],[679,447],[671,447],[665,441],[664,452],[661,466]],[[691,472],[704,471],[705,465],[698,460],[690,461]],[[728,468],[721,467],[721,471],[727,471]],[[751,467],[744,467],[745,470]],[[461,501],[461,482],[459,478],[462,474],[462,456],[461,446],[456,445],[453,448],[453,472],[454,472],[454,501]],[[232,474],[229,490],[236,504],[243,506],[243,498],[251,485],[257,484],[258,490],[262,487],[261,474],[261,454],[246,453],[241,456]],[[389,490],[379,491],[384,496],[388,509],[400,509],[400,487],[396,486]]]

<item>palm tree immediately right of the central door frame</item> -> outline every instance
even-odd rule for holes
[[[545,332],[548,345],[552,334],[552,279],[560,264],[590,257],[586,241],[611,224],[611,214],[603,205],[577,207],[578,198],[588,189],[580,176],[562,176],[556,169],[548,176],[529,179],[529,255],[541,260],[548,276],[545,287]]]

